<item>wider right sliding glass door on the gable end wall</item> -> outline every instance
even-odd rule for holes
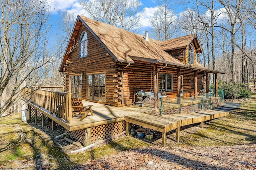
[[[105,73],[87,74],[87,98],[105,102]]]

